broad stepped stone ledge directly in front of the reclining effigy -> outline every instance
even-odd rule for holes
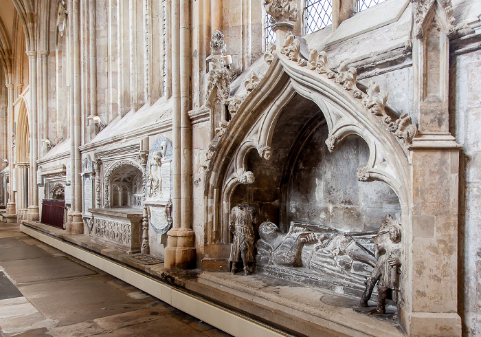
[[[355,312],[359,298],[265,274],[202,272],[186,287],[295,336],[405,336],[395,322]]]

